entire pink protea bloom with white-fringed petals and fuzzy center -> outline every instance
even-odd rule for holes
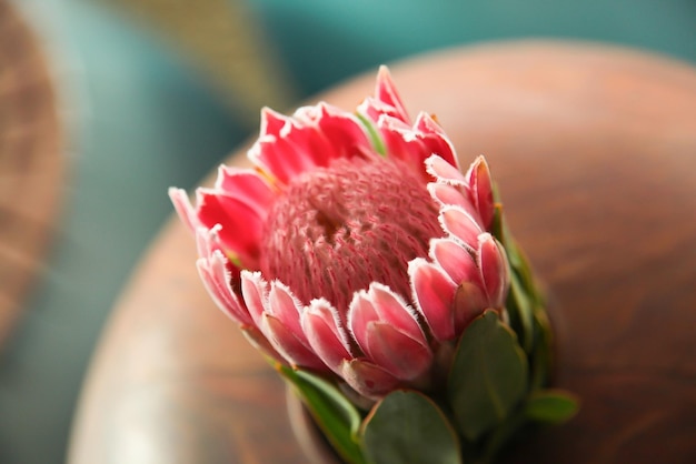
[[[349,113],[326,103],[261,112],[255,169],[170,189],[198,238],[213,301],[279,362],[378,399],[428,387],[436,353],[487,309],[508,263],[490,234],[490,173],[466,173],[428,114],[411,122],[386,68]]]

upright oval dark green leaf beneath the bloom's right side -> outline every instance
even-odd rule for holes
[[[515,333],[493,311],[464,332],[447,381],[461,434],[473,442],[503,423],[527,394],[528,365]]]

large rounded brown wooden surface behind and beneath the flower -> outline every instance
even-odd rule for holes
[[[696,462],[696,70],[543,42],[391,69],[463,163],[487,155],[556,303],[558,382],[583,410],[505,462]],[[372,79],[322,98],[354,108]],[[142,258],[93,359],[71,463],[306,461],[282,383],[209,301],[195,258],[177,221]]]

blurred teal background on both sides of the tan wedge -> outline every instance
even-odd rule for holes
[[[70,176],[48,272],[0,353],[0,463],[46,464],[64,461],[99,332],[140,253],[171,213],[167,186],[195,185],[256,128],[241,123],[248,115],[221,103],[188,60],[127,17],[88,0],[30,3],[29,17],[58,69]],[[248,6],[298,98],[414,53],[511,38],[605,41],[696,63],[693,0]]]

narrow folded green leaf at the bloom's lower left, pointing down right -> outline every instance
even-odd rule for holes
[[[340,456],[350,464],[365,464],[360,448],[360,413],[330,382],[306,371],[280,365],[280,374],[295,385],[317,425]]]

